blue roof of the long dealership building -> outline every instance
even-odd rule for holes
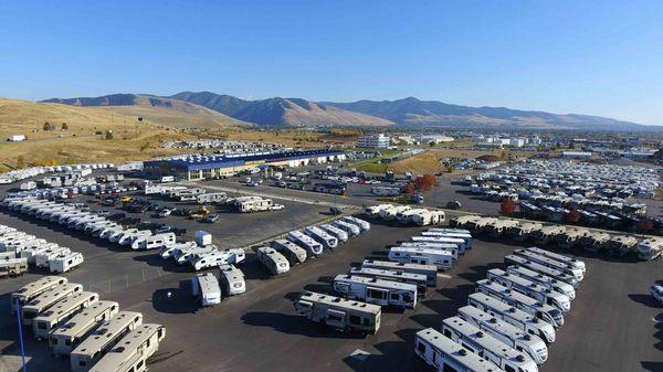
[[[211,155],[206,156],[203,159],[192,158],[190,160],[185,159],[166,159],[166,160],[151,160],[146,161],[147,167],[159,166],[162,162],[168,163],[172,168],[183,168],[187,170],[197,169],[212,169],[212,168],[232,168],[243,167],[246,162],[251,161],[264,161],[280,162],[296,159],[307,159],[313,157],[332,157],[343,155],[341,151],[335,150],[305,150],[305,151],[287,151],[287,152],[274,152],[263,155],[249,155],[249,156],[224,156],[224,155]]]

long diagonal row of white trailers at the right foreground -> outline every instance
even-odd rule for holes
[[[490,269],[476,283],[456,316],[417,332],[419,358],[440,372],[538,371],[576,297],[569,276],[551,266],[585,269],[585,263],[539,248],[520,251],[505,258],[505,269]],[[548,265],[513,261],[526,252]]]

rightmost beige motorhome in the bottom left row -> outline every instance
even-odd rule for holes
[[[91,372],[145,372],[147,360],[157,352],[166,337],[166,327],[144,323],[123,337],[94,364]]]

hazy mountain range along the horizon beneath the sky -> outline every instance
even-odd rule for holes
[[[408,97],[354,103],[312,102],[304,98],[248,100],[211,92],[181,92],[172,96],[115,94],[102,97],[52,98],[45,103],[73,106],[118,106],[127,115],[151,108],[200,117],[230,126],[259,127],[417,127],[495,129],[650,130],[641,124],[600,116],[551,114],[506,107],[470,107]]]

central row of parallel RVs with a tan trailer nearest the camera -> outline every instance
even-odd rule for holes
[[[449,233],[465,233],[449,230]],[[461,240],[463,244],[470,242]],[[456,252],[457,245],[454,245]],[[451,251],[451,249],[450,249]],[[334,295],[307,291],[295,300],[295,310],[307,319],[344,331],[376,333],[380,327],[381,307],[413,309],[418,298],[438,284],[432,255],[442,251],[411,252],[408,257],[389,254],[389,261],[365,259],[337,275],[332,284]],[[444,251],[451,262],[452,255]]]

